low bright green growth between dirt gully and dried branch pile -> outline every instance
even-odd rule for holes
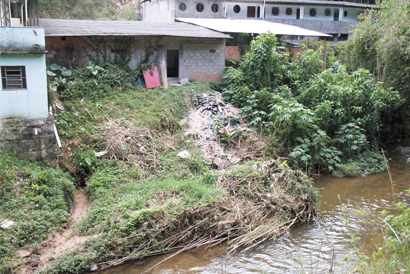
[[[105,183],[101,183],[102,174],[108,175]],[[202,178],[136,183],[129,180],[129,173],[113,174],[113,170],[101,170],[87,183],[93,202],[87,219],[78,226],[81,233],[128,235],[159,215],[175,218],[184,208],[208,205],[223,193]]]

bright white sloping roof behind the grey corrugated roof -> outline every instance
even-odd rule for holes
[[[212,30],[226,33],[265,33],[270,31],[277,35],[299,36],[328,36],[318,31],[308,30],[292,25],[274,23],[264,20],[241,19],[202,19],[202,18],[177,18],[178,21],[195,24]]]

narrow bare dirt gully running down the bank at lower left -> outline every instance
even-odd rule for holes
[[[75,209],[71,215],[68,227],[63,232],[53,232],[47,239],[40,243],[39,256],[28,261],[26,266],[19,272],[21,274],[34,273],[36,269],[46,267],[49,257],[62,254],[68,249],[81,245],[90,236],[73,235],[78,222],[84,219],[90,210],[90,202],[83,189],[78,189],[75,194]],[[31,253],[27,250],[19,251],[20,257],[28,257]]]

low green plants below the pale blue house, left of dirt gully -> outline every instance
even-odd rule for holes
[[[65,193],[74,197],[74,184],[62,171],[0,155],[0,222],[15,224],[0,230],[0,272],[9,272],[16,252],[38,244],[70,216]]]

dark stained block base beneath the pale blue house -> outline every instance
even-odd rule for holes
[[[57,165],[57,140],[50,118],[1,119],[0,153]]]

